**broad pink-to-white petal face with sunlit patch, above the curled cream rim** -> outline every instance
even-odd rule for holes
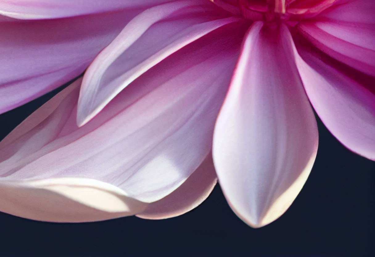
[[[210,152],[244,33],[230,25],[160,62],[81,128],[79,88],[66,88],[0,143],[1,181],[93,179],[143,202],[173,192]]]

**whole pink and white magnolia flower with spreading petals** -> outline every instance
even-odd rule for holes
[[[138,11],[83,79],[0,142],[3,212],[56,222],[169,218],[200,204],[217,175],[234,212],[264,226],[288,209],[311,171],[311,105],[342,144],[375,160],[372,0],[35,2],[1,3],[1,14],[88,19],[88,45],[100,41],[101,23],[89,24],[100,10],[107,18]],[[52,21],[61,22],[38,22]],[[41,63],[47,80],[26,69],[49,85],[36,83],[34,95],[81,72],[105,38],[87,53],[75,49],[78,38],[67,59],[69,47],[61,48],[58,72],[75,73]]]

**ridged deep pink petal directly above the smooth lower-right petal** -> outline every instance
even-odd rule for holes
[[[375,25],[317,22],[300,23],[298,28],[324,53],[356,70],[375,76]]]

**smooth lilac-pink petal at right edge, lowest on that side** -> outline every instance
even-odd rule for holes
[[[350,150],[375,160],[375,95],[299,48],[296,62],[315,111]]]

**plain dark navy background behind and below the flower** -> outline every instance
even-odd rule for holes
[[[0,139],[58,90],[0,115]],[[237,218],[217,185],[195,210],[160,221],[56,224],[0,213],[0,256],[375,256],[375,162],[318,126],[308,181],[266,227]]]

